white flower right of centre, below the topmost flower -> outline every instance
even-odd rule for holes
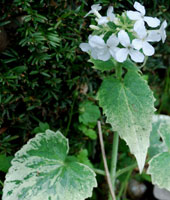
[[[132,41],[132,45],[134,46],[134,48],[137,50],[142,49],[143,53],[146,56],[152,56],[155,53],[155,49],[153,48],[152,45],[148,43],[148,41],[150,40],[148,38],[148,33],[146,31],[144,23],[142,22],[135,31],[137,33],[137,39],[134,39]]]

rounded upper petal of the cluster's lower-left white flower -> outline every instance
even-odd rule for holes
[[[89,44],[91,47],[99,48],[99,49],[102,49],[106,46],[104,40],[100,36],[97,36],[97,35],[91,36],[89,38]]]

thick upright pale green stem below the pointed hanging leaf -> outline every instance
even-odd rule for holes
[[[112,158],[111,158],[111,166],[110,166],[110,177],[111,177],[113,190],[115,190],[115,177],[116,177],[116,165],[117,165],[117,156],[118,156],[118,145],[119,145],[119,134],[117,132],[114,132],[113,146],[112,146]],[[109,200],[111,200],[110,195],[109,195]]]

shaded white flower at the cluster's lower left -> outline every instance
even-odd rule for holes
[[[111,35],[105,43],[103,38],[97,35],[89,36],[88,43],[81,43],[82,51],[91,53],[92,58],[107,61],[110,57],[115,58],[115,52],[119,50],[117,45],[119,40],[115,35]]]

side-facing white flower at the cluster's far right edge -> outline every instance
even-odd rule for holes
[[[167,22],[165,20],[158,30],[149,31],[148,41],[159,42],[162,39],[162,42],[164,43],[166,39],[166,31],[165,31],[166,27],[167,27]]]

